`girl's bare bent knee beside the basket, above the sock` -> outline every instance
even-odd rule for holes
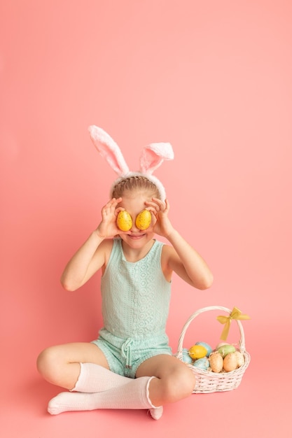
[[[149,384],[149,399],[155,406],[178,402],[193,393],[195,375],[181,360],[171,355],[158,355],[145,360],[137,377],[156,376]]]

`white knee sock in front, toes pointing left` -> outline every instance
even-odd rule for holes
[[[154,377],[129,379],[125,385],[102,393],[60,393],[50,400],[48,412],[55,415],[65,411],[93,409],[151,409],[153,414],[157,414],[153,416],[151,413],[151,416],[158,419],[162,415],[162,409],[153,406],[149,399],[149,383],[152,379]]]

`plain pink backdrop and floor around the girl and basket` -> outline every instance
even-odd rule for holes
[[[291,436],[291,20],[288,0],[1,2],[1,437]],[[43,348],[95,339],[102,324],[99,275],[77,292],[60,285],[115,176],[91,124],[133,170],[146,144],[173,145],[156,175],[214,271],[203,292],[174,278],[174,351],[201,307],[251,316],[239,388],[192,395],[158,422],[50,416],[59,388],[36,372]],[[186,346],[216,343],[220,313],[193,321]]]

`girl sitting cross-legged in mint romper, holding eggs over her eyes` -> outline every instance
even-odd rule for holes
[[[117,148],[109,136],[104,139],[108,134],[102,129],[90,129],[102,155],[106,153],[101,145],[108,148],[111,143]],[[106,156],[109,162],[113,162],[112,151],[110,158],[109,153]],[[151,212],[152,220],[141,230],[135,218],[144,209]],[[124,210],[132,218],[128,231],[121,231],[116,222]],[[50,400],[50,414],[150,409],[158,419],[163,404],[193,393],[195,376],[172,355],[165,333],[172,272],[200,290],[209,288],[212,275],[202,257],[174,229],[168,214],[164,188],[151,174],[128,172],[113,183],[101,222],[61,278],[66,290],[76,290],[102,269],[104,327],[91,343],[53,346],[39,355],[37,367],[44,379],[69,390]],[[155,234],[169,245],[157,241]]]

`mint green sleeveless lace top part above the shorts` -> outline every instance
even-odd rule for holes
[[[171,283],[162,273],[163,243],[154,241],[138,262],[127,262],[121,239],[113,240],[102,276],[102,315],[106,330],[121,338],[165,333]]]

